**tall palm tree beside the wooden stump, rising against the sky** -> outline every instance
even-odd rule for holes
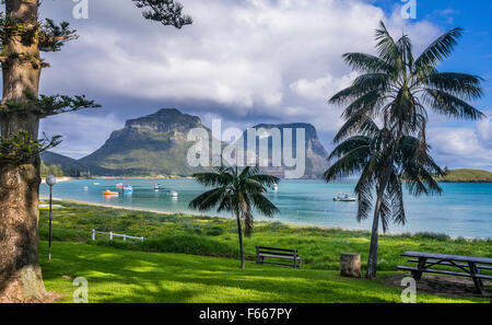
[[[387,211],[385,209],[388,206],[385,200],[393,197],[393,187],[396,186],[393,178],[398,177],[400,181],[410,182],[414,194],[426,193],[421,185],[432,184],[430,178],[423,184],[415,183],[417,179],[410,181],[411,175],[417,176],[419,172],[409,161],[403,160],[403,158],[408,159],[403,155],[403,147],[401,147],[403,142],[405,148],[409,150],[407,153],[415,154],[413,161],[421,160],[418,163],[427,172],[427,177],[432,176],[429,173],[431,170],[441,174],[438,167],[431,167],[433,162],[426,154],[429,150],[425,139],[429,119],[426,109],[431,108],[441,115],[470,120],[484,116],[467,103],[483,95],[480,86],[482,79],[466,73],[440,72],[436,68],[438,62],[452,54],[461,34],[461,28],[450,30],[435,39],[415,59],[410,38],[402,35],[395,40],[385,24],[380,22],[375,33],[377,56],[362,53],[343,55],[344,61],[362,74],[351,86],[330,98],[332,104],[347,105],[342,114],[347,121],[333,139],[335,143],[341,142],[338,152],[342,155],[332,154],[331,158],[341,156],[340,163],[333,164],[326,172],[325,179],[329,182],[333,177],[356,171],[362,172],[355,189],[359,194],[358,218],[360,219],[367,218],[371,210],[370,191],[375,186],[377,198],[374,207],[367,278],[376,276],[379,217],[386,230],[385,213]],[[377,132],[377,146],[371,142],[375,146],[371,150],[377,148],[376,151],[371,151],[374,158],[355,159],[355,154],[362,154],[363,149],[359,148],[354,153],[344,151],[343,148],[353,146],[353,142],[343,140],[352,136],[362,136],[376,141],[373,120],[380,120],[384,125]],[[420,149],[412,149],[409,143],[419,146]],[[337,169],[340,170],[337,171]],[[412,186],[417,186],[417,191]],[[437,188],[434,189],[438,191]]]

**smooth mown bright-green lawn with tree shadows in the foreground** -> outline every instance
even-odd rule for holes
[[[72,302],[72,279],[89,281],[89,302],[400,302],[401,288],[380,279],[347,279],[333,270],[258,266],[231,258],[147,253],[55,242],[39,245],[45,286]],[[383,272],[379,277],[387,276]],[[65,277],[63,277],[65,276]],[[418,294],[418,302],[488,302]]]

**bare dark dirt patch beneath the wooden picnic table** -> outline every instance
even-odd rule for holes
[[[401,279],[409,275],[398,274],[383,279],[383,282],[389,286],[401,288]],[[488,290],[488,295],[491,293],[491,282],[484,281],[483,283]],[[462,277],[447,277],[447,276],[433,276],[423,275],[422,279],[417,281],[418,292],[425,292],[437,295],[448,297],[478,297],[483,295],[477,292],[473,281]]]

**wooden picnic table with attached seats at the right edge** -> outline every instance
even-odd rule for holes
[[[492,270],[492,258],[412,251],[403,252],[401,253],[401,256],[412,257],[408,259],[408,262],[417,263],[417,267],[397,266],[397,269],[411,271],[415,280],[420,280],[423,272],[468,277],[473,280],[477,291],[482,295],[485,295],[482,280],[492,280],[492,276],[481,274],[481,270]],[[440,265],[454,267],[461,271],[432,268]]]

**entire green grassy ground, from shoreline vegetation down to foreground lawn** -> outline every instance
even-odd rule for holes
[[[67,277],[89,280],[90,302],[399,302],[402,288],[382,278],[406,264],[407,249],[492,256],[491,240],[452,240],[440,234],[382,235],[378,279],[339,277],[339,254],[360,253],[365,269],[370,233],[280,222],[255,224],[245,240],[246,270],[238,268],[235,221],[162,214],[57,201],[54,259],[46,260],[48,218],[40,210],[40,263],[48,290],[71,302]],[[92,229],[144,236],[144,242],[91,241]],[[297,248],[302,269],[258,266],[256,245]],[[65,277],[63,277],[65,276]],[[479,298],[418,294],[419,302],[488,302]]]

